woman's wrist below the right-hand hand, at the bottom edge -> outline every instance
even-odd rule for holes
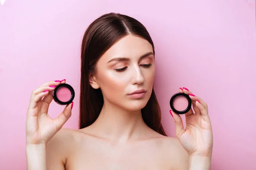
[[[189,155],[189,170],[210,170],[211,156]]]

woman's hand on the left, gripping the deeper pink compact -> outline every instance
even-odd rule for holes
[[[52,119],[48,115],[49,104],[53,99],[52,91],[62,83],[66,83],[66,80],[49,81],[32,92],[26,118],[27,145],[47,144],[70,118],[73,102],[57,118]]]

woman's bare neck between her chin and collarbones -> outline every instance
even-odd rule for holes
[[[128,111],[111,103],[104,103],[99,117],[91,125],[97,136],[116,142],[138,139],[147,125],[143,121],[141,110]]]

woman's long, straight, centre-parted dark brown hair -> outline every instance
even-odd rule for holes
[[[81,45],[80,129],[91,125],[98,118],[104,102],[101,89],[94,89],[90,86],[89,74],[95,73],[96,62],[102,54],[128,34],[147,40],[154,52],[154,43],[146,28],[139,21],[127,15],[104,14],[94,20],[85,31]],[[141,112],[148,127],[167,136],[161,124],[161,110],[154,88],[148,103]]]

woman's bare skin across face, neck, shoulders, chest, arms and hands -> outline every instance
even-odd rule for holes
[[[170,112],[177,138],[160,135],[142,119],[140,109],[148,102],[154,82],[152,51],[149,42],[128,35],[103,54],[90,85],[101,88],[104,105],[98,119],[83,129],[62,128],[71,116],[72,103],[58,118],[48,115],[54,90],[49,86],[65,80],[47,82],[33,91],[26,120],[28,170],[209,170],[212,130],[202,99],[190,96],[195,113],[186,113],[186,129],[180,116]],[[140,58],[144,54],[148,56]],[[128,60],[108,63],[115,57]],[[116,71],[121,68],[122,72]],[[147,91],[143,98],[128,95],[141,88]]]

